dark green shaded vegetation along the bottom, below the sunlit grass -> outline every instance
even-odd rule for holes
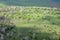
[[[18,34],[20,38],[26,38],[29,40],[60,40],[60,36],[56,35],[55,33],[46,33],[46,32],[37,32],[37,29],[31,27],[17,27]],[[25,40],[27,40],[25,39]],[[19,40],[19,39],[18,39]]]

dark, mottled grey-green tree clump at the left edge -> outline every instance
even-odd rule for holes
[[[5,40],[4,36],[7,36],[7,33],[9,33],[14,28],[15,25],[10,19],[0,16],[0,40]]]

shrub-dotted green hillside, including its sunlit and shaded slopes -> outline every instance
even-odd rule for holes
[[[59,11],[57,8],[45,7],[0,8],[0,17],[8,18],[15,25],[13,32],[8,32],[8,38],[4,35],[5,40],[60,40]],[[10,22],[2,23],[10,27]]]

